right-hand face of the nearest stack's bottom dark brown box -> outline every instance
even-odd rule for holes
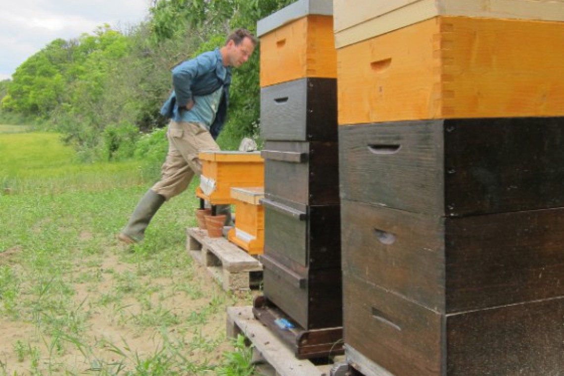
[[[564,298],[447,316],[446,375],[561,376],[563,322]]]

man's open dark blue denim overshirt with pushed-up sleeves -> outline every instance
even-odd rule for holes
[[[172,73],[174,91],[163,104],[161,113],[174,121],[182,120],[178,108],[186,107],[193,96],[209,95],[223,87],[219,108],[210,126],[211,136],[217,138],[225,125],[231,85],[231,67],[223,66],[219,48],[178,64]]]

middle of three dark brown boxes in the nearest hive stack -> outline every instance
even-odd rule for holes
[[[343,271],[441,313],[564,296],[564,209],[444,218],[343,200]]]

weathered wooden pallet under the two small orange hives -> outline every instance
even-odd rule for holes
[[[208,231],[186,230],[186,250],[208,269],[223,290],[249,290],[262,280],[262,264],[226,238],[210,238]]]

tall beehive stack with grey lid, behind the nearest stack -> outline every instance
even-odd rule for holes
[[[266,299],[255,314],[267,320],[259,308],[271,304],[297,326],[292,333],[315,330],[294,338],[298,357],[336,352],[342,336],[332,6],[300,0],[258,23]]]

